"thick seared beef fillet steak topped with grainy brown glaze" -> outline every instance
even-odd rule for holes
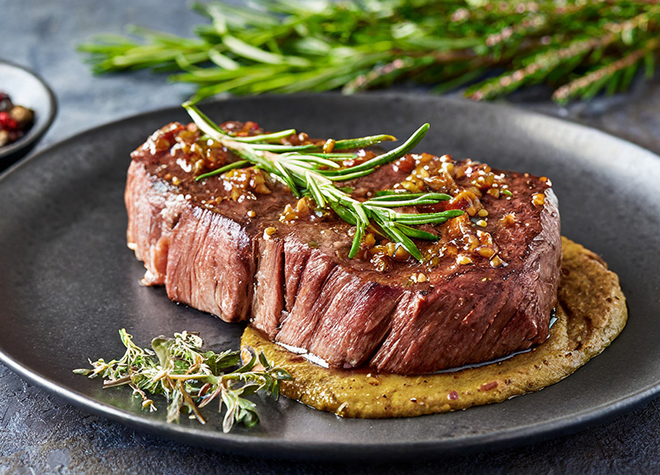
[[[147,268],[146,285],[164,284],[172,300],[227,322],[246,320],[331,367],[422,374],[547,338],[561,264],[557,200],[547,179],[407,155],[340,186],[357,199],[395,188],[444,192],[452,200],[404,211],[466,213],[423,227],[441,237],[417,242],[423,263],[377,234],[349,259],[353,226],[297,200],[264,172],[195,181],[237,160],[200,135],[194,125],[170,124],[132,154],[127,236]]]

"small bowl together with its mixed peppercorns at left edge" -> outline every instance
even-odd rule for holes
[[[0,59],[0,170],[37,144],[56,112],[55,95],[43,79]]]

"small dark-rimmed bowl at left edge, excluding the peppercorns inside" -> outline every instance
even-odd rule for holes
[[[19,140],[0,147],[0,170],[7,168],[34,147],[53,123],[57,113],[55,94],[32,71],[0,59],[0,91],[12,102],[34,110],[32,128]]]

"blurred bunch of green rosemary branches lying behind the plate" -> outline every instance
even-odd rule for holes
[[[254,0],[193,8],[211,22],[197,26],[196,39],[132,27],[141,41],[105,36],[79,49],[99,74],[174,72],[171,81],[197,86],[193,102],[225,92],[352,93],[402,80],[436,92],[470,85],[465,94],[477,100],[535,83],[569,85],[554,96],[566,101],[625,90],[641,64],[651,76],[660,50],[652,41],[660,31],[656,0]],[[620,74],[607,74],[611,64]]]

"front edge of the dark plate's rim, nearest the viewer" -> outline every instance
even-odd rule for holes
[[[187,445],[207,447],[237,455],[258,455],[266,459],[287,460],[332,461],[336,460],[336,452],[341,451],[342,457],[346,461],[383,459],[392,461],[415,459],[421,461],[439,459],[458,453],[470,454],[527,446],[555,437],[573,434],[611,420],[618,415],[629,412],[638,405],[650,401],[660,392],[660,383],[650,385],[637,391],[632,396],[623,397],[613,403],[596,406],[584,411],[577,418],[558,417],[541,425],[533,425],[524,429],[509,429],[440,441],[414,442],[403,440],[397,443],[369,443],[369,441],[364,441],[360,446],[351,443],[333,442],[331,444],[332,450],[329,451],[329,444],[325,442],[308,441],[300,443],[260,438],[250,434],[223,434],[221,432],[200,431],[178,424],[149,419],[148,416],[124,411],[73,389],[65,388],[50,378],[33,372],[13,358],[8,357],[2,348],[0,348],[0,362],[21,378],[65,400],[67,403],[128,427],[153,435],[164,436]],[[309,409],[315,410],[313,408]],[[418,417],[441,416],[442,414],[428,414]],[[219,441],[226,445],[218,445]],[[255,442],[257,442],[256,445],[254,445]],[[372,453],[375,449],[378,449],[381,453]],[[432,450],[436,450],[436,452],[431,453]],[[386,452],[387,455],[383,456],[382,452]]]

